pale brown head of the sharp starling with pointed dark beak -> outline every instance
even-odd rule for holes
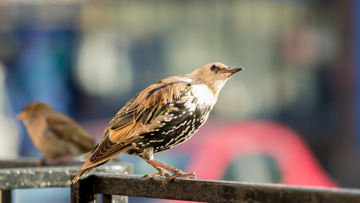
[[[225,83],[230,79],[230,76],[235,72],[243,70],[243,68],[230,68],[222,63],[209,63],[190,75],[206,84],[215,94],[218,94]]]

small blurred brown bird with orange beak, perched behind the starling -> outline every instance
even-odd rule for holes
[[[17,115],[27,134],[44,158],[63,161],[94,149],[93,137],[79,123],[43,102],[31,102]]]

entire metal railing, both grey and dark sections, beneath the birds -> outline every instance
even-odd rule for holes
[[[1,161],[0,190],[2,203],[11,202],[11,190],[21,188],[68,187],[77,166],[34,167],[35,161]],[[71,202],[127,202],[127,196],[188,200],[198,202],[360,202],[358,189],[325,189],[281,184],[255,184],[233,181],[188,180],[176,178],[163,186],[161,178],[141,181],[132,173],[131,164],[99,166],[89,177],[71,185]],[[70,177],[71,176],[71,177]]]

